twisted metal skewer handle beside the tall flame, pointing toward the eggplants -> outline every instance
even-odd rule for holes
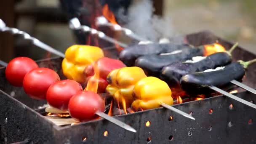
[[[125,27],[121,27],[119,24],[112,24],[112,23],[108,22],[107,19],[104,16],[97,17],[96,25],[98,25],[98,26],[108,26],[108,27],[112,27],[116,31],[123,31],[125,33],[125,35],[127,35],[128,37],[133,38],[134,40],[138,40],[138,41],[145,41],[146,40],[146,39],[140,37],[139,35],[136,35],[130,29],[127,29]]]

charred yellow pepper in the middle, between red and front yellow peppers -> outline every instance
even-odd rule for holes
[[[115,101],[117,101],[120,106],[125,104],[126,107],[130,107],[133,102],[134,85],[144,77],[147,76],[139,67],[115,69],[107,76],[109,85],[106,91],[114,97]]]

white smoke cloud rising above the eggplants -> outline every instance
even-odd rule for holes
[[[171,19],[154,15],[154,11],[151,0],[133,0],[127,16],[121,16],[122,12],[120,12],[119,17],[124,21],[124,27],[144,39],[158,41],[163,37],[171,38],[173,36]]]

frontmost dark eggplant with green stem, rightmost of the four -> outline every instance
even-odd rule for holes
[[[187,93],[205,94],[211,86],[225,87],[231,80],[242,80],[245,69],[239,62],[233,62],[224,69],[212,72],[195,72],[181,77],[181,88]]]

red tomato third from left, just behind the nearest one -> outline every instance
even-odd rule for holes
[[[83,91],[82,86],[75,80],[61,80],[48,88],[46,99],[52,107],[67,110],[69,99],[81,91]]]

